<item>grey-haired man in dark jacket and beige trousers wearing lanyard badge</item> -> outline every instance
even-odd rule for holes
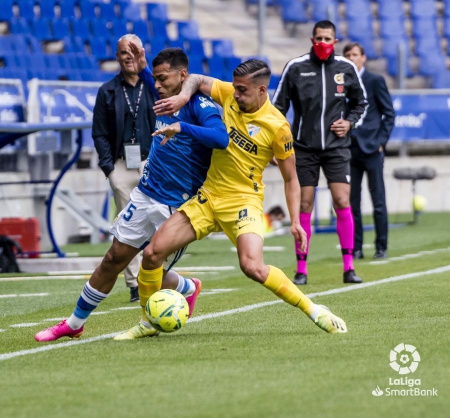
[[[134,71],[127,53],[129,40],[142,46],[133,34],[123,35],[117,41],[115,56],[120,72],[98,89],[92,119],[98,165],[109,180],[117,213],[125,207],[142,176],[156,120],[152,108],[154,95]],[[127,152],[130,150],[134,152]],[[139,299],[136,280],[139,265],[136,255],[124,269],[130,302]]]

